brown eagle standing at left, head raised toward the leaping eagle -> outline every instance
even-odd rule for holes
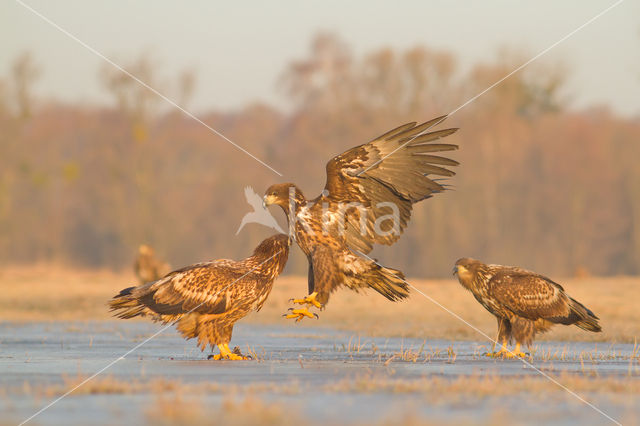
[[[217,345],[214,359],[247,359],[229,349],[233,325],[260,310],[289,256],[290,240],[277,234],[262,241],[253,255],[234,261],[219,259],[175,270],[158,281],[122,290],[109,302],[119,318],[150,316],[164,324],[178,322],[198,346]]]

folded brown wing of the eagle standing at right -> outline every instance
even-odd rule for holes
[[[536,320],[566,318],[569,297],[560,284],[519,268],[505,268],[489,281],[490,294],[514,314]]]

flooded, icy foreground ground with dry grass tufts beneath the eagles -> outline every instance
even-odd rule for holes
[[[145,322],[1,324],[2,421],[22,422],[160,329]],[[633,344],[540,342],[535,369],[483,356],[489,348],[480,342],[370,338],[317,326],[240,324],[234,345],[254,359],[209,361],[169,328],[31,422],[154,424],[166,405],[189,411],[193,399],[215,414],[251,395],[263,407],[280,407],[275,423],[613,424],[542,373],[624,424],[640,418]],[[179,402],[164,398],[176,393]]]

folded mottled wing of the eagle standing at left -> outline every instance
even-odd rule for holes
[[[136,289],[134,296],[160,315],[221,314],[229,310],[238,289],[234,284],[245,274],[232,260],[199,263]]]

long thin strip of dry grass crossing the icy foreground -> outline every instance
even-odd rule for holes
[[[567,388],[577,393],[608,394],[610,396],[640,396],[640,377],[638,376],[592,376],[582,373],[561,372],[554,378]],[[53,398],[64,394],[70,388],[81,383],[86,377],[63,377],[62,383],[38,388],[22,386],[5,389],[15,395]],[[362,373],[324,385],[306,383],[249,383],[245,385],[222,385],[215,382],[183,383],[180,380],[156,378],[152,380],[130,380],[115,376],[98,376],[83,386],[73,395],[108,395],[108,394],[153,394],[167,395],[305,395],[309,393],[393,393],[424,394],[430,401],[452,402],[458,397],[489,397],[523,394],[528,397],[546,398],[553,393],[564,393],[565,390],[556,383],[540,375],[501,375],[501,374],[468,374],[452,377],[429,375],[415,379],[396,378],[393,369],[384,372]]]

